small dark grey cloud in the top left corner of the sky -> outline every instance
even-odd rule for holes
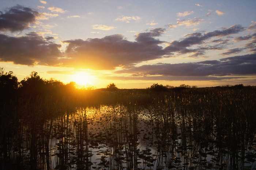
[[[5,12],[0,11],[0,31],[23,31],[35,23],[37,11],[31,8],[16,5]]]

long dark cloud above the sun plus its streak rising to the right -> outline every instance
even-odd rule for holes
[[[188,48],[195,44],[202,44],[211,37],[228,36],[244,30],[241,25],[233,25],[230,28],[216,30],[208,33],[192,33],[180,41],[173,41],[163,49],[161,41],[156,37],[161,36],[165,29],[156,28],[148,32],[139,33],[136,41],[128,41],[122,35],[110,35],[101,39],[76,39],[67,40],[66,59],[62,59],[63,66],[84,67],[98,70],[110,70],[117,66],[132,67],[135,63],[170,57],[173,52],[179,54],[192,53],[189,57],[196,58],[205,54],[206,50],[222,50],[225,46]]]

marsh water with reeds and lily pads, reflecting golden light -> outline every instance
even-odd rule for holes
[[[161,104],[74,108],[20,120],[12,153],[24,169],[255,169],[255,131],[224,117]]]

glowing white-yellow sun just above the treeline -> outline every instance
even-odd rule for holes
[[[77,72],[71,79],[79,86],[93,86],[96,78],[87,72]]]

